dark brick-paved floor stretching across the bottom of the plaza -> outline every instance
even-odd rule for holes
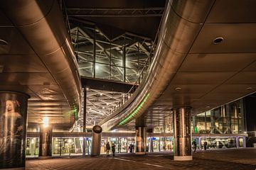
[[[86,169],[86,170],[149,170],[149,169],[232,169],[255,170],[256,148],[198,151],[193,161],[175,162],[171,152],[147,154],[117,154],[115,157],[65,157],[28,159],[26,169]]]

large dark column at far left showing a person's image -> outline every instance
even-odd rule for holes
[[[0,169],[25,169],[28,95],[0,91]]]

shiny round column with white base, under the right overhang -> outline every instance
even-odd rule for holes
[[[174,108],[174,161],[192,160],[191,108]]]

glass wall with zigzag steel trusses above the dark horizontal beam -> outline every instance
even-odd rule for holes
[[[130,33],[112,38],[86,23],[73,27],[70,35],[83,77],[134,83],[154,56],[149,38]]]

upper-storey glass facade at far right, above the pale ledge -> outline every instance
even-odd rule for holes
[[[245,132],[242,99],[192,117],[193,133],[239,134]]]

